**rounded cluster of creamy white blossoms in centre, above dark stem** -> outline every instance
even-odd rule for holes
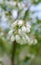
[[[16,20],[11,24],[11,28],[8,33],[11,41],[16,40],[20,44],[29,43],[30,37],[28,33],[30,32],[31,25],[28,22],[25,23],[23,20]]]

